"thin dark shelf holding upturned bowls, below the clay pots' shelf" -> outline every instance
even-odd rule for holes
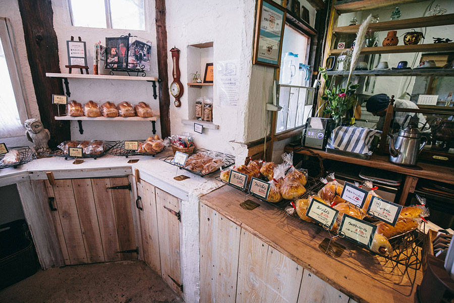
[[[328,71],[326,72],[329,76],[348,76],[349,71],[337,72]],[[412,69],[412,70],[370,70],[370,71],[353,71],[353,76],[377,76],[377,77],[404,77],[404,76],[421,76],[421,77],[432,77],[432,76],[444,76],[454,77],[454,69]]]

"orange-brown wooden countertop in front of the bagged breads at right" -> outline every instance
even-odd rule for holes
[[[384,258],[372,256],[344,239],[339,239],[339,243],[347,247],[346,251],[339,258],[331,258],[318,248],[329,237],[323,228],[252,199],[260,206],[244,210],[240,207],[244,194],[224,185],[200,201],[358,302],[415,301],[421,270],[410,269],[406,274],[401,266],[393,270],[391,262],[385,263]]]

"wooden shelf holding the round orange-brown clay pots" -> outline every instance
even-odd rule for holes
[[[331,49],[329,51],[329,54],[340,55],[343,51],[345,51],[345,49]],[[396,53],[446,52],[446,51],[454,51],[454,42],[363,47],[361,49],[361,54],[396,54]]]

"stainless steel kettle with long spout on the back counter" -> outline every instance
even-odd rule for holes
[[[415,166],[419,153],[427,143],[427,138],[421,136],[419,129],[409,126],[401,129],[397,138],[394,138],[395,135],[392,134],[388,134],[388,136],[391,138],[389,161],[399,165]]]

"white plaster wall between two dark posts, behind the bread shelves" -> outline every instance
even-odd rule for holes
[[[87,28],[71,25],[71,16],[67,0],[53,0],[53,26],[59,43],[60,69],[67,73],[68,64],[66,41],[71,36],[77,39],[82,38],[87,44],[87,63],[90,74],[93,73],[93,43],[101,41],[105,45],[105,37],[119,37],[120,35],[137,35],[152,42],[151,47],[151,71],[147,76],[157,77],[157,55],[156,55],[156,28],[155,28],[155,7],[154,1],[144,1],[146,11],[145,31]],[[102,13],[100,13],[102,17]],[[52,72],[52,71],[49,71]],[[78,70],[73,73],[79,73]],[[158,85],[156,83],[156,90]],[[153,87],[151,82],[146,81],[122,81],[122,80],[91,80],[91,79],[69,79],[71,92],[70,100],[77,100],[82,104],[93,100],[99,105],[106,101],[118,104],[127,101],[132,105],[145,102],[150,105],[153,113],[159,114],[159,97],[153,98]],[[50,97],[50,96],[49,96]],[[50,102],[50,100],[49,100]],[[72,139],[106,139],[106,140],[125,140],[125,139],[144,139],[151,135],[151,122],[113,122],[113,121],[84,121],[84,134],[79,134],[77,121],[71,121]],[[160,123],[156,122],[157,134],[161,135]]]

